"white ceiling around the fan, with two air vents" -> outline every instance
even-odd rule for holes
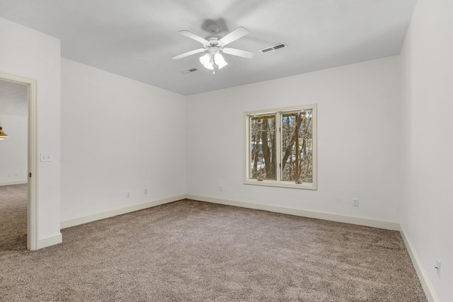
[[[0,0],[0,17],[57,37],[62,57],[183,95],[214,91],[399,54],[416,0]],[[215,75],[200,48],[178,34],[250,33],[229,47],[253,59],[225,55]],[[261,48],[288,47],[261,54]],[[181,71],[198,69],[190,74]]]

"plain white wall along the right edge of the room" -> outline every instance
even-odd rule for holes
[[[453,1],[418,0],[401,52],[406,112],[401,225],[439,301],[453,297],[452,11]]]

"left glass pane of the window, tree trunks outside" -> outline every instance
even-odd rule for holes
[[[275,115],[250,119],[251,178],[276,180]]]

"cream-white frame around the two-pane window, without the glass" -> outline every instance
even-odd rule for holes
[[[307,109],[312,110],[312,125],[311,125],[311,132],[312,132],[312,140],[313,140],[313,178],[312,182],[287,182],[281,180],[281,161],[282,161],[282,139],[281,139],[281,123],[282,118],[281,115],[290,112],[299,112],[304,111]],[[276,180],[257,180],[251,178],[251,145],[250,145],[250,135],[251,135],[251,118],[256,117],[259,115],[271,115],[275,114],[275,124],[276,124],[276,133],[275,133],[275,142],[277,143],[276,147],[276,156],[278,158],[277,162],[277,178]],[[289,187],[294,189],[305,189],[305,190],[318,190],[318,142],[317,142],[317,109],[316,104],[312,105],[301,105],[297,107],[288,107],[288,108],[275,108],[270,110],[254,110],[249,112],[244,112],[243,114],[243,124],[244,124],[244,173],[243,173],[243,183],[244,185],[263,185],[263,186],[270,186],[270,187]]]

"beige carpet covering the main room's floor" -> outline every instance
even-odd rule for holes
[[[0,301],[426,301],[396,231],[183,200],[0,254]]]

